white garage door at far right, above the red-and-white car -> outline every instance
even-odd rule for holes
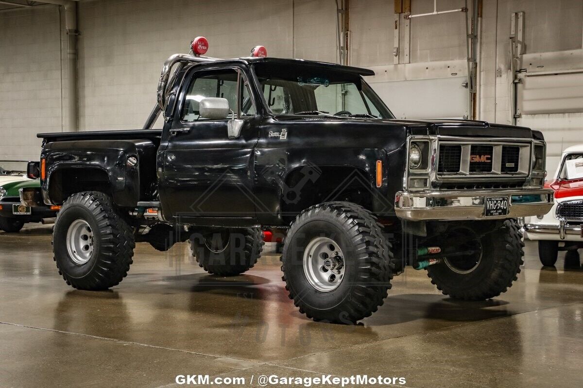
[[[563,149],[583,143],[583,70],[524,73],[520,78],[517,124],[543,132],[552,174]]]

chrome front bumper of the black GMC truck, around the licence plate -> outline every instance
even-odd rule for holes
[[[508,197],[508,214],[484,216],[486,197]],[[546,214],[553,207],[553,190],[487,190],[487,191],[399,191],[395,196],[395,212],[401,219],[483,220],[505,219]]]

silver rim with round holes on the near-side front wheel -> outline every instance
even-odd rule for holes
[[[344,279],[345,259],[336,241],[316,237],[304,251],[304,275],[314,289],[323,293],[333,291]]]

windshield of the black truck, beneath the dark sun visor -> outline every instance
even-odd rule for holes
[[[394,118],[358,74],[266,62],[253,68],[273,115]]]

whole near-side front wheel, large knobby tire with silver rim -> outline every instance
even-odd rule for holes
[[[391,288],[391,243],[365,208],[326,202],[308,208],[284,240],[286,290],[314,321],[355,323],[377,311]]]

